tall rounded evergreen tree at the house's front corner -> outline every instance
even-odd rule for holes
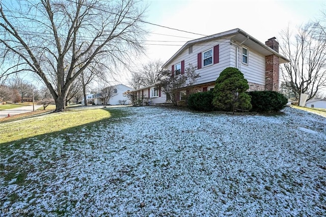
[[[213,105],[220,111],[251,110],[247,79],[237,68],[224,69],[215,82]]]

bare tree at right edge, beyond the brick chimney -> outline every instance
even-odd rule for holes
[[[300,99],[302,93],[308,99],[326,86],[325,34],[308,23],[292,35],[289,29],[281,32],[283,55],[290,60],[281,67],[285,85]]]

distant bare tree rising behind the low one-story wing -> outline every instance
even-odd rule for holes
[[[131,73],[132,77],[129,85],[137,90],[158,83],[164,76],[162,73],[163,64],[164,63],[161,60],[151,61],[144,64],[139,71]]]

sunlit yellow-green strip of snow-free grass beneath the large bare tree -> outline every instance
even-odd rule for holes
[[[47,111],[49,112],[49,111]],[[0,144],[36,137],[46,133],[55,133],[68,130],[77,126],[101,121],[114,116],[119,117],[121,111],[109,109],[70,110],[64,113],[38,115],[22,115],[16,119],[3,122],[0,128]]]

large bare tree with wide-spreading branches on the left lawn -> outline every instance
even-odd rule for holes
[[[71,84],[95,59],[128,66],[143,52],[144,11],[134,0],[0,2],[0,77],[37,74],[63,111]]]

